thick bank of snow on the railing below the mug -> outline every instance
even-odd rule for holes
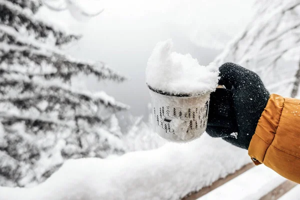
[[[68,160],[30,189],[0,187],[1,200],[178,200],[251,162],[247,152],[204,134],[107,160]],[[255,181],[255,180],[254,180]]]

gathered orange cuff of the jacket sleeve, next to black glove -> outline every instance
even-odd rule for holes
[[[265,153],[274,140],[283,104],[283,97],[271,94],[258,120],[248,148],[248,155],[255,165],[263,163]]]

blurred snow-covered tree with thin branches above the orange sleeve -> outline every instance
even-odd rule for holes
[[[271,92],[294,97],[300,82],[300,0],[256,0],[254,8],[250,23],[215,62],[238,63],[258,73]]]

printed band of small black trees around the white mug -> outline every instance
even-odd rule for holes
[[[181,120],[188,120],[187,124],[187,130],[186,133],[188,133],[191,130],[198,130],[202,129],[202,127],[205,126],[206,120],[205,118],[208,115],[208,101],[205,103],[204,107],[190,109],[188,108],[185,111],[180,110],[180,108],[175,107],[169,107],[169,106],[162,106],[159,108],[159,115],[156,115],[156,110],[158,112],[158,108],[153,108],[154,116],[156,116],[156,122],[157,126],[161,127],[163,132],[167,134],[175,134],[174,129],[171,129],[171,121],[173,119],[181,119]],[[170,113],[170,111],[172,111]],[[184,115],[183,115],[184,113]],[[159,118],[160,117],[160,118]]]

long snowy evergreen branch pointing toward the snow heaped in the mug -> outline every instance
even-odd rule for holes
[[[1,44],[0,44],[1,45]],[[4,50],[4,49],[0,49]],[[54,66],[51,72],[41,72],[38,74],[28,74],[31,76],[43,76],[46,79],[60,78],[63,81],[69,81],[71,77],[78,75],[80,72],[89,75],[93,74],[99,80],[111,79],[117,82],[122,82],[126,77],[119,75],[117,72],[107,67],[102,62],[86,62],[64,57],[63,55],[53,53],[48,56],[47,52],[34,50],[31,48],[9,48],[2,51],[1,62],[9,64],[20,64],[30,67],[31,63],[41,65],[46,63]],[[15,71],[17,72],[17,71]]]

